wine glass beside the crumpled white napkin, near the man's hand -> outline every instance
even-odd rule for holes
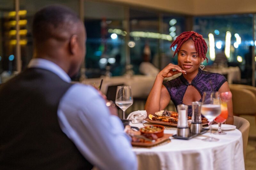
[[[125,110],[133,103],[131,86],[117,86],[116,105],[123,110],[125,119]]]

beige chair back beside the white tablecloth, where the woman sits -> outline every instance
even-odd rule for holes
[[[236,126],[236,129],[240,130],[241,133],[242,133],[244,159],[245,159],[246,147],[247,147],[249,129],[250,129],[250,123],[242,117],[234,116],[234,125]]]

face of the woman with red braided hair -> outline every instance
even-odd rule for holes
[[[187,73],[198,70],[200,63],[203,61],[196,52],[193,40],[188,40],[180,48],[178,53],[178,65]]]

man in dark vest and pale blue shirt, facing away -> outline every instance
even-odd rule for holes
[[[0,169],[136,169],[128,136],[91,86],[71,84],[85,30],[63,6],[33,21],[34,57],[0,87]]]

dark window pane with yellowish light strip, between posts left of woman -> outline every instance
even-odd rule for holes
[[[130,9],[130,54],[135,74],[142,62],[158,67],[159,15],[154,11]]]

